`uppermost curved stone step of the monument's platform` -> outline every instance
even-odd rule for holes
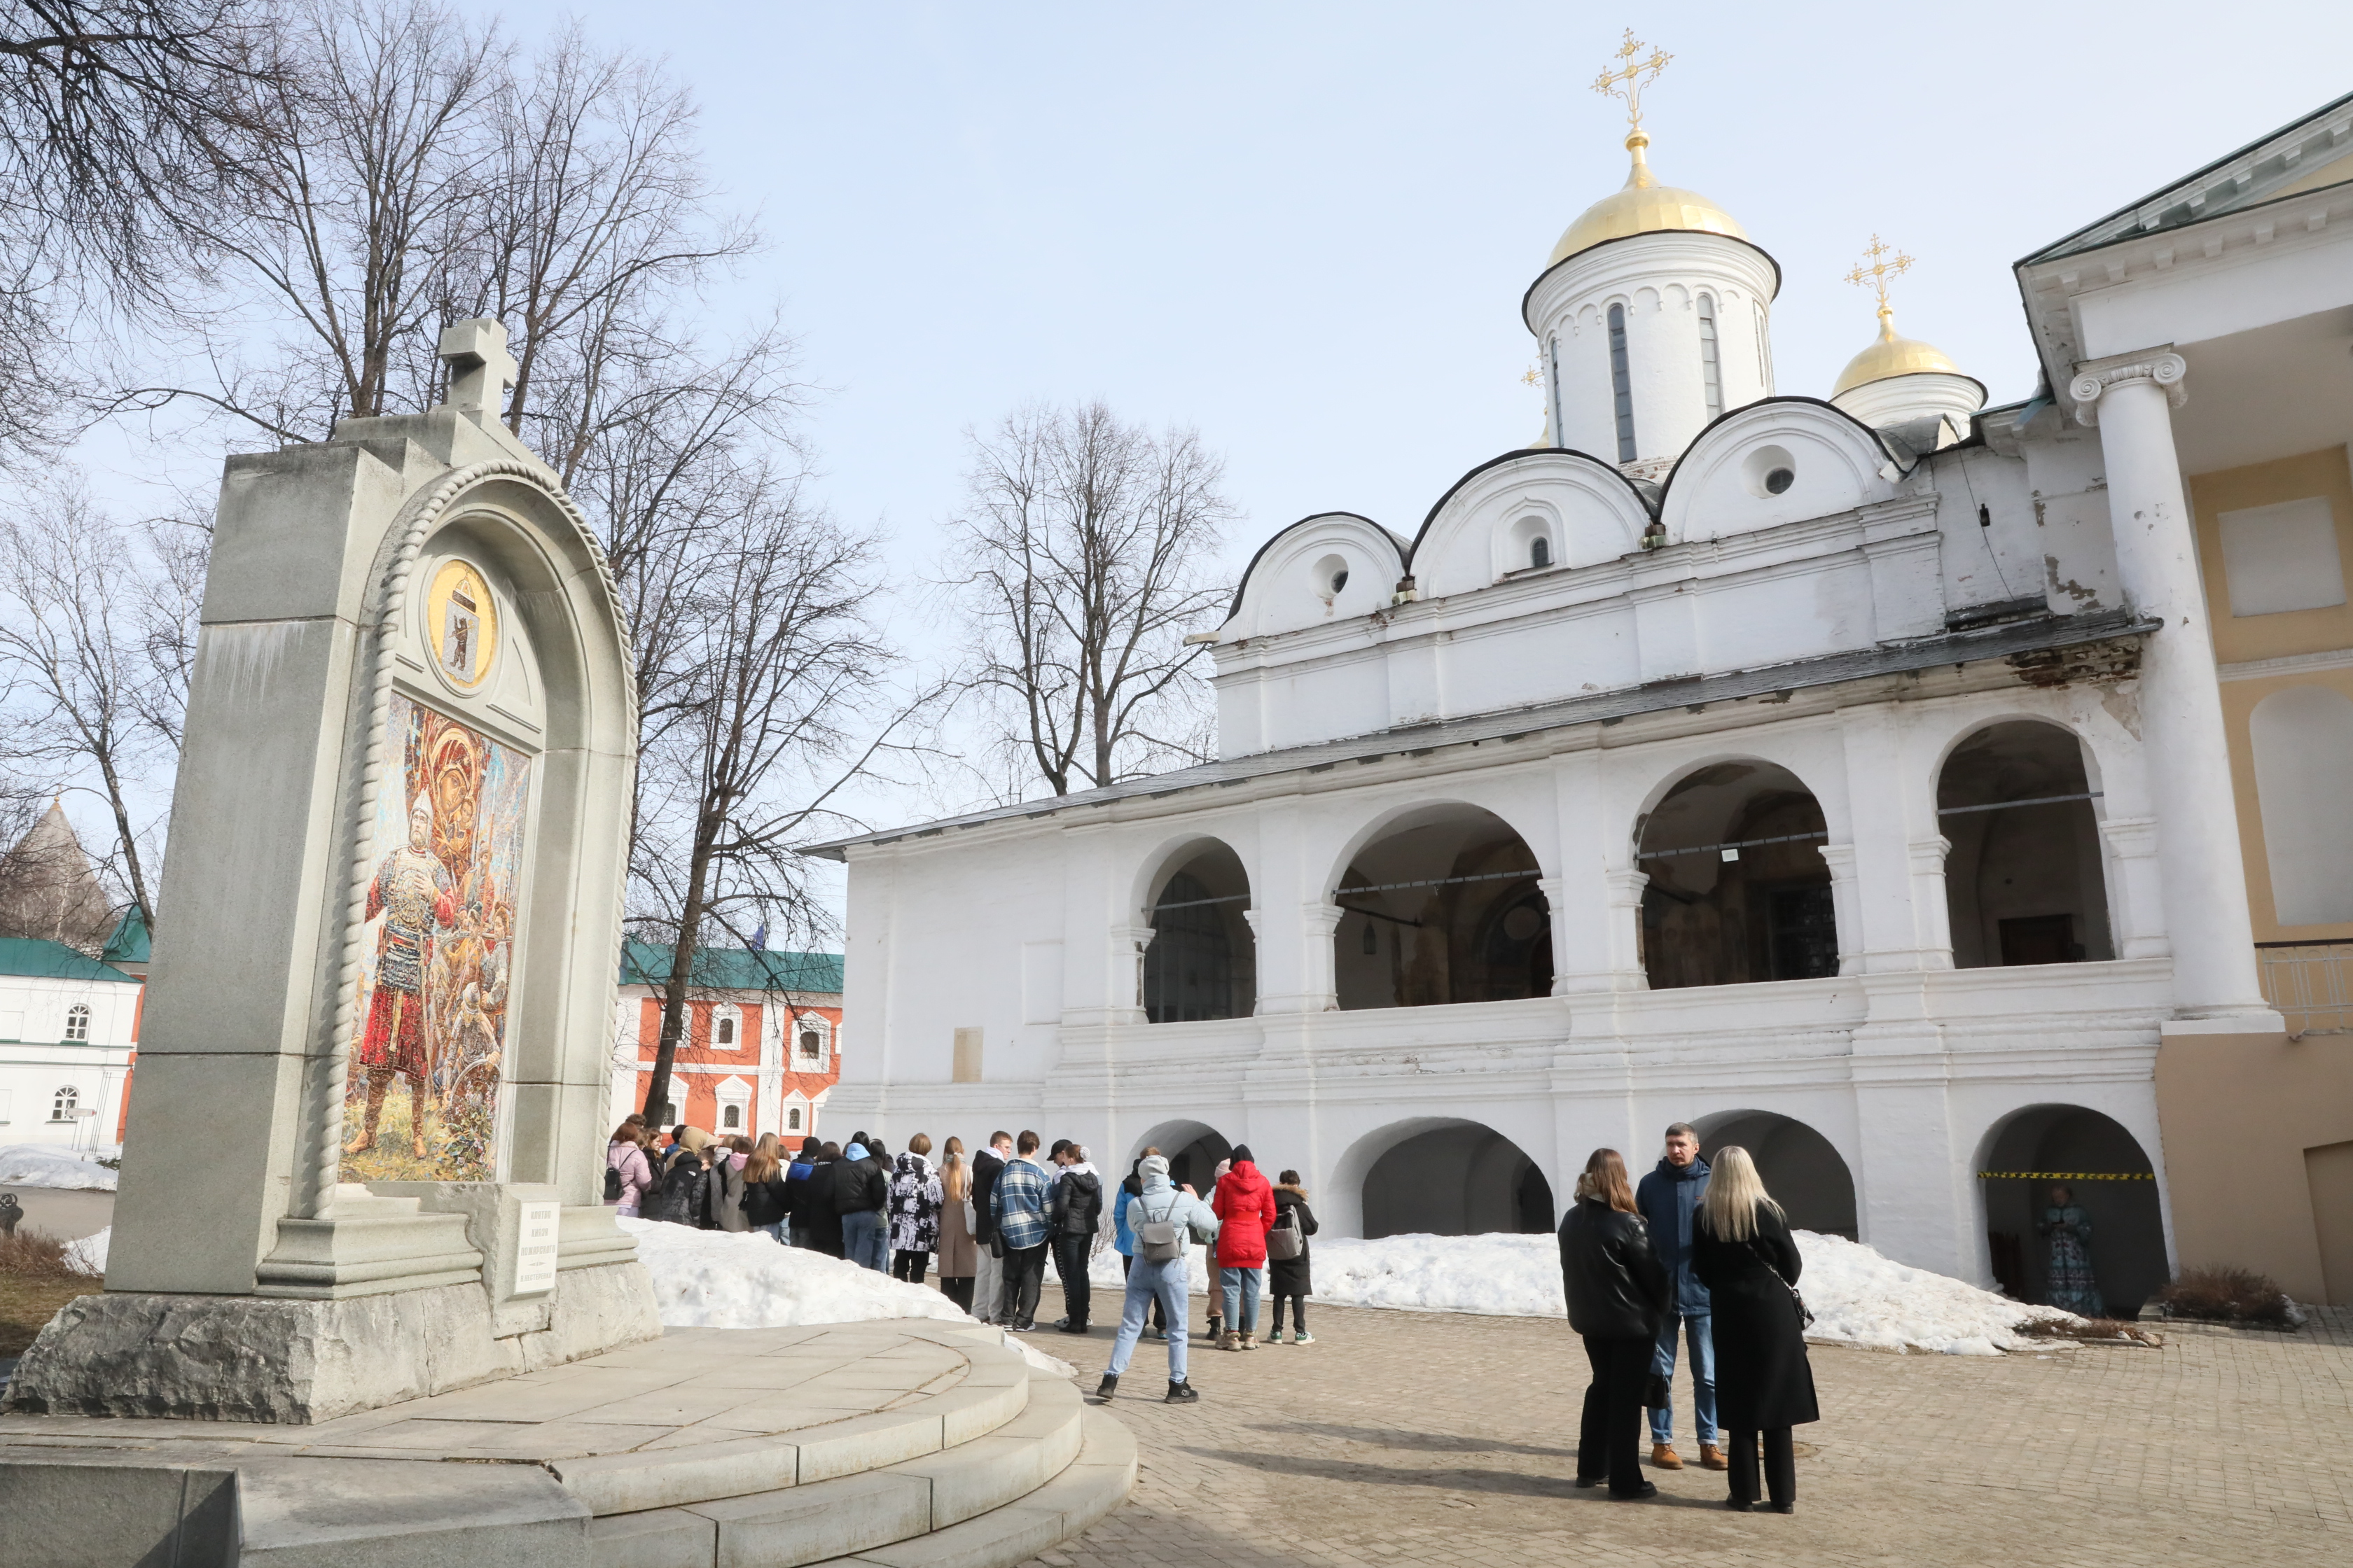
[[[904,1408],[816,1427],[551,1460],[548,1472],[595,1516],[816,1486],[920,1460],[988,1436],[1031,1399],[1028,1361],[1002,1340],[965,1340],[965,1378]]]

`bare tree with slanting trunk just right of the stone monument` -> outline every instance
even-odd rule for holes
[[[793,477],[741,470],[732,501],[668,599],[668,668],[645,698],[631,924],[668,950],[647,1117],[671,1093],[696,952],[748,945],[753,919],[816,931],[793,844],[908,717],[878,715],[894,661],[873,623],[873,543],[809,508]]]

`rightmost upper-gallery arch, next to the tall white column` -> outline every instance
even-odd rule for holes
[[[2115,957],[2089,795],[2082,743],[2057,724],[1988,724],[1953,748],[1937,825],[1955,969]]]

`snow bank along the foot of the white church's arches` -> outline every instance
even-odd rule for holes
[[[1814,1309],[1814,1326],[1805,1331],[1809,1340],[1991,1356],[2028,1345],[2017,1328],[2031,1319],[2080,1321],[2057,1307],[2028,1307],[1906,1267],[1845,1237],[1795,1234],[1805,1258],[1798,1291]],[[1339,1307],[1567,1316],[1553,1237],[1318,1237],[1308,1244],[1308,1260],[1315,1300]],[[1099,1288],[1118,1288],[1118,1253],[1096,1255],[1087,1274]],[[1200,1251],[1191,1274],[1200,1295],[1212,1279]],[[1096,1309],[1096,1319],[1111,1316]]]

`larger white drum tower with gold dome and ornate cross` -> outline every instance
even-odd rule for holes
[[[1718,416],[1772,395],[1779,263],[1722,207],[1661,186],[1642,85],[1668,63],[1628,31],[1595,92],[1626,101],[1626,186],[1560,235],[1522,301],[1544,350],[1551,444],[1661,480]]]

